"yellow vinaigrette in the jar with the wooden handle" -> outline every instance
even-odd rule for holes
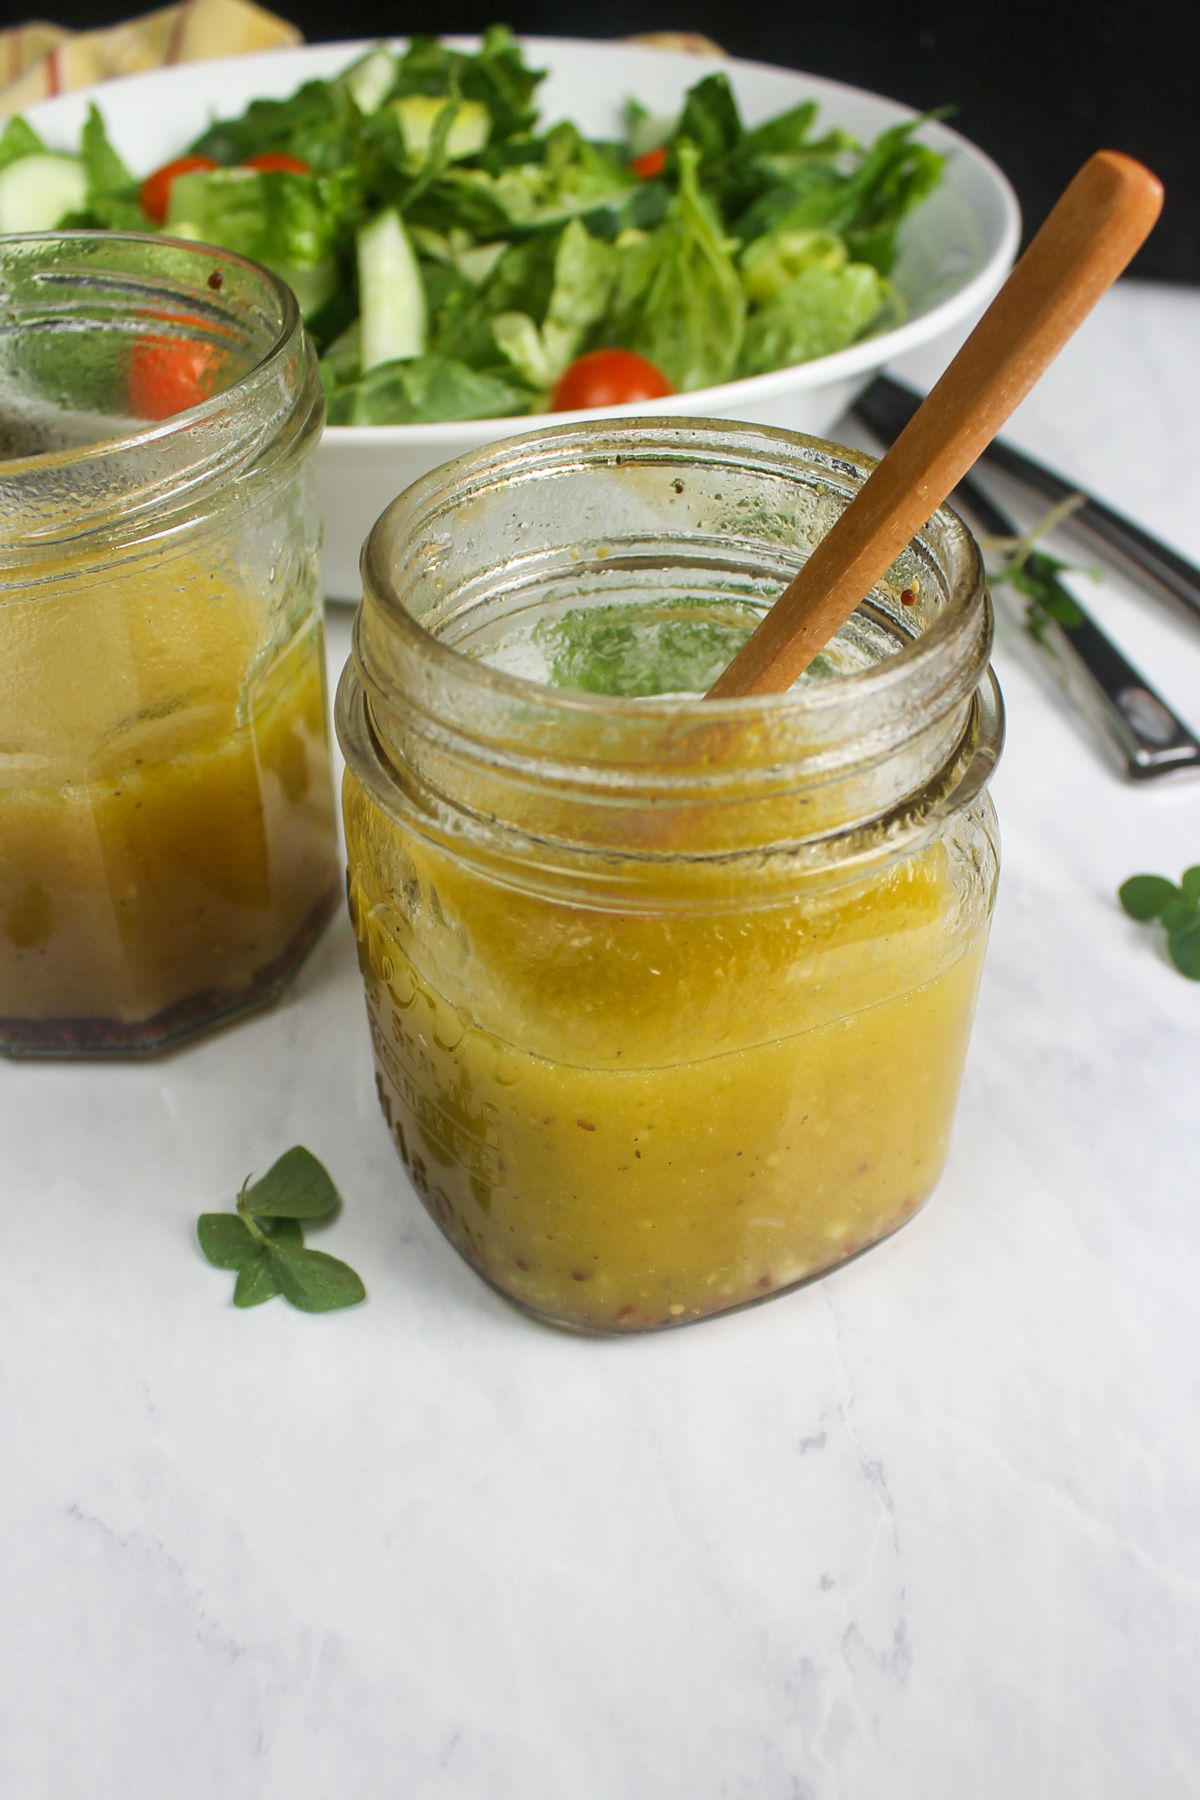
[[[986,941],[945,846],[819,900],[613,914],[489,884],[353,776],[344,805],[383,1112],[504,1292],[583,1328],[682,1323],[927,1199]]]

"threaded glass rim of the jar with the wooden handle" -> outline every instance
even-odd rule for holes
[[[551,844],[569,857],[639,844],[723,857],[896,823],[948,779],[972,720],[991,761],[999,751],[977,706],[991,601],[948,508],[860,608],[849,655],[869,666],[783,695],[579,693],[493,668],[423,623],[459,641],[522,617],[533,628],[576,596],[603,605],[610,580],[651,599],[694,581],[721,601],[770,605],[873,466],[779,428],[604,419],[434,470],[363,549],[338,695],[347,763],[394,785],[417,830],[506,841],[518,857]]]

